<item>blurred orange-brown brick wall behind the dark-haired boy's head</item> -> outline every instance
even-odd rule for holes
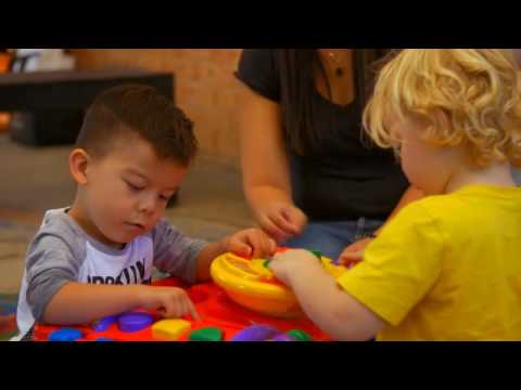
[[[237,81],[240,49],[74,49],[78,68],[134,66],[173,72],[176,102],[195,121],[203,153],[238,164]]]

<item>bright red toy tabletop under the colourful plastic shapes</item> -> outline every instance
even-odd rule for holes
[[[190,321],[192,326],[190,330],[180,336],[179,341],[187,341],[191,332],[209,326],[220,328],[224,332],[224,340],[227,341],[238,332],[256,324],[274,326],[281,333],[301,329],[310,335],[315,341],[329,340],[329,337],[308,318],[282,320],[252,312],[231,301],[226,292],[213,283],[187,287],[175,278],[165,278],[155,282],[154,285],[186,288],[202,318],[201,321],[192,321],[189,316],[183,317],[183,320]],[[162,320],[155,313],[151,314],[155,321]],[[60,328],[62,327],[36,325],[33,339],[35,341],[47,341],[48,336]],[[94,341],[100,338],[114,341],[161,341],[152,337],[151,327],[135,333],[123,333],[118,329],[117,324],[112,324],[105,332],[94,332],[91,326],[75,326],[73,328],[81,330],[82,337],[77,341]]]

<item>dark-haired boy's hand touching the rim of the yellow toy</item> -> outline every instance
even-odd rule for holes
[[[245,258],[263,259],[277,251],[277,244],[259,229],[246,229],[225,239],[227,251]]]

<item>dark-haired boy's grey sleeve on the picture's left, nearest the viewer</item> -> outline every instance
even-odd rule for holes
[[[36,237],[26,260],[26,299],[36,321],[63,285],[78,280],[81,260],[77,248],[60,236]]]

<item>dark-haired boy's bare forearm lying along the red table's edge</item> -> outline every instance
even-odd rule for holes
[[[55,325],[73,325],[130,311],[140,306],[143,287],[147,286],[67,283],[51,299],[42,320]]]

